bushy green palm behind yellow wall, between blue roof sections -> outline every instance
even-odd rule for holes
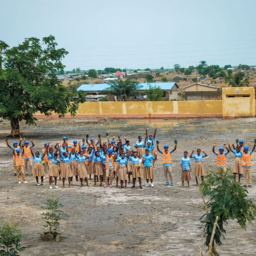
[[[130,79],[117,80],[112,82],[109,88],[106,88],[106,92],[117,96],[121,101],[127,101],[129,97],[138,96],[140,88],[141,85],[136,81]]]

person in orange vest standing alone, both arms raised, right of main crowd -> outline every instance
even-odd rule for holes
[[[164,172],[164,176],[165,176],[165,181],[166,183],[164,185],[169,185],[169,180],[168,180],[168,174],[170,177],[170,181],[171,181],[171,186],[173,186],[173,180],[172,180],[172,157],[171,154],[177,149],[177,143],[178,141],[175,140],[174,141],[174,149],[173,150],[168,150],[169,146],[168,145],[164,145],[162,150],[159,150],[159,141],[156,141],[156,145],[157,145],[157,150],[160,154],[163,154],[163,159],[162,159],[162,164],[163,164],[163,172]]]

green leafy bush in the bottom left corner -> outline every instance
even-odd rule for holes
[[[17,230],[18,224],[10,225],[5,223],[0,228],[0,255],[1,256],[13,256],[18,255],[18,252],[24,252],[25,247],[20,244],[21,238],[24,236],[21,234],[21,230]]]

